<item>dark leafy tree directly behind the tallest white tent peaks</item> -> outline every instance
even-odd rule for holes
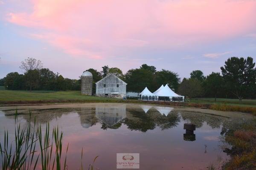
[[[175,91],[178,90],[180,78],[177,73],[174,73],[169,70],[162,70],[156,72],[156,84],[159,88],[161,85],[168,84],[170,88],[174,89]]]

